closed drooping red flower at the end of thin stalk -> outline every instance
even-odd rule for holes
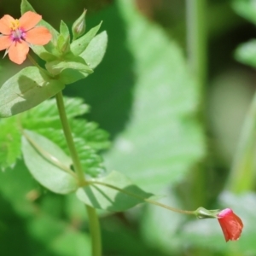
[[[227,208],[218,213],[218,222],[223,230],[226,241],[237,240],[241,236],[243,224],[231,209]]]

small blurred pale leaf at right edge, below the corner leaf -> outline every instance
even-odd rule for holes
[[[241,44],[236,49],[235,57],[236,60],[241,63],[247,64],[251,67],[256,67],[256,39]]]

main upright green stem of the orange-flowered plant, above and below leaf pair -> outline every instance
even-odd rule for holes
[[[75,148],[73,142],[73,136],[71,133],[70,126],[67,120],[67,114],[65,111],[65,106],[63,102],[62,92],[58,92],[55,96],[57,107],[59,110],[59,115],[61,119],[62,129],[64,131],[64,135],[66,137],[67,146],[69,148],[71,158],[73,160],[73,167],[78,176],[80,186],[84,186],[86,184],[86,180],[84,177],[83,168],[81,162],[79,160],[79,154]],[[102,243],[101,243],[101,231],[100,225],[98,221],[98,217],[96,214],[96,210],[92,207],[87,207],[87,213],[89,217],[89,225],[90,225],[90,235],[91,235],[91,246],[92,246],[92,256],[100,256],[102,251]]]

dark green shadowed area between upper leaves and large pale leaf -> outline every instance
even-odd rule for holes
[[[108,48],[102,63],[88,78],[67,85],[64,93],[83,97],[91,106],[89,119],[99,123],[114,137],[124,129],[131,111],[133,59],[125,45],[125,24],[117,4],[87,18],[87,31],[101,20],[101,31],[108,32]]]

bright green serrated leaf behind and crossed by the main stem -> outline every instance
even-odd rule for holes
[[[109,147],[108,133],[99,129],[96,123],[87,122],[84,119],[73,119],[89,111],[89,107],[82,99],[64,98],[64,102],[83,169],[87,174],[95,177],[105,170],[102,157],[97,152]],[[24,113],[22,126],[49,138],[69,154],[54,99],[43,102],[37,108]]]

